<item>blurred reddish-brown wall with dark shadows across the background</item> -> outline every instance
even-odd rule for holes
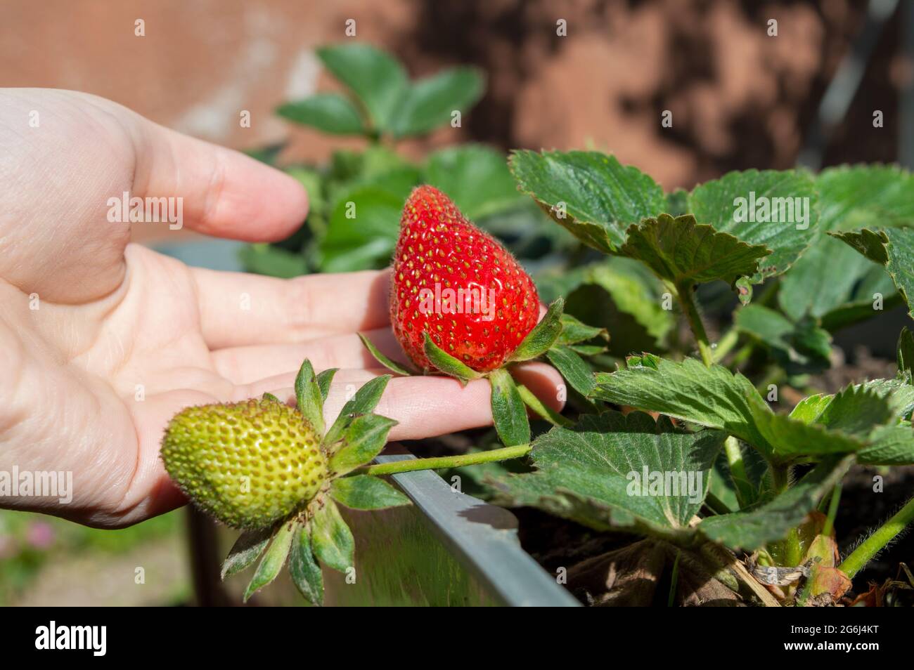
[[[320,161],[358,141],[292,129],[285,99],[332,85],[314,47],[356,39],[404,58],[413,76],[473,63],[489,90],[458,130],[505,149],[595,147],[667,189],[728,169],[789,167],[828,80],[861,25],[864,0],[4,0],[0,86],[80,89],[231,147],[292,139],[284,160]],[[778,37],[765,32],[768,17]],[[145,37],[134,36],[134,21]],[[556,35],[556,21],[568,36]],[[909,76],[891,31],[839,129],[834,161],[884,160]],[[878,106],[878,108],[877,108]],[[866,128],[872,109],[886,128]],[[239,125],[250,110],[250,129]],[[663,110],[673,128],[661,128]],[[843,142],[843,143],[842,143]]]

